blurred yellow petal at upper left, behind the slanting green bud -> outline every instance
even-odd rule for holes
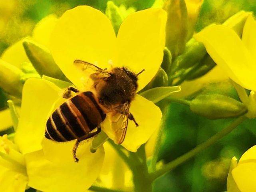
[[[50,46],[50,36],[52,34],[52,30],[56,25],[58,18],[52,14],[43,18],[40,22],[38,22],[33,30],[33,39],[49,48]]]

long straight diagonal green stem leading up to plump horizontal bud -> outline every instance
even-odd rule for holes
[[[204,149],[208,148],[212,144],[216,143],[218,140],[222,139],[224,136],[226,136],[228,133],[230,133],[233,129],[235,129],[240,123],[242,123],[244,120],[246,120],[247,117],[240,116],[238,119],[234,120],[228,127],[222,129],[220,132],[213,135],[210,139],[205,141],[202,144],[199,144],[196,146],[196,148],[190,150],[189,152],[183,154],[182,156],[178,157],[177,159],[167,163],[163,168],[153,172],[150,174],[150,180],[153,181],[163,174],[173,170],[183,162],[189,160],[190,158],[194,157],[199,152],[203,151]]]

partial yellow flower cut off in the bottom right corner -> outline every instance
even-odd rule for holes
[[[253,192],[256,191],[256,146],[248,149],[240,158],[231,161],[232,176],[228,177],[228,192]]]

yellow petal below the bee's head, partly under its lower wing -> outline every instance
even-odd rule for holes
[[[129,151],[136,152],[141,144],[146,143],[154,131],[158,128],[162,113],[161,110],[151,101],[136,95],[135,100],[131,102],[130,112],[139,124],[135,126],[133,121],[129,120],[125,140],[122,145]],[[116,141],[115,130],[107,125],[107,121],[102,124],[102,129],[113,141]]]

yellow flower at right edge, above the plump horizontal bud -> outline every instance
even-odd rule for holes
[[[234,30],[215,25],[206,27],[194,36],[202,42],[217,65],[236,84],[241,101],[247,106],[247,117],[256,117],[256,20],[250,14],[244,24],[242,39]],[[248,97],[240,88],[252,90]],[[240,91],[239,91],[240,90]]]

